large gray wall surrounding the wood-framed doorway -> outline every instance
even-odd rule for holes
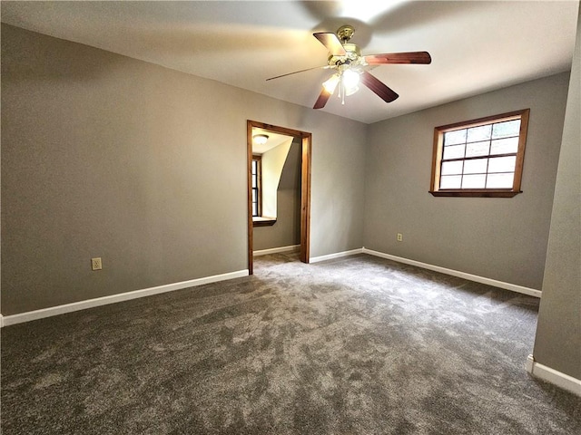
[[[249,119],[313,134],[311,256],[361,247],[365,124],[2,24],[2,314],[246,269]]]

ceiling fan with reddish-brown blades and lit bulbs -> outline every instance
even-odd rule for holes
[[[287,75],[304,73],[305,71],[316,69],[332,69],[336,73],[323,82],[322,90],[313,109],[321,109],[329,101],[330,96],[335,92],[339,85],[338,95],[341,102],[345,103],[345,97],[359,90],[359,83],[363,83],[372,92],[379,95],[384,102],[393,102],[399,95],[391,90],[378,78],[371,75],[369,67],[374,67],[385,63],[423,63],[428,64],[432,59],[428,52],[409,52],[409,53],[382,53],[362,56],[359,47],[350,43],[350,39],[355,33],[355,29],[350,25],[342,25],[337,33],[320,32],[313,34],[329,50],[327,65],[306,70],[295,71],[294,73],[277,75],[269,80],[279,79]]]

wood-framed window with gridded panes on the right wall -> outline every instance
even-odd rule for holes
[[[529,110],[436,127],[429,192],[514,197],[520,190]]]

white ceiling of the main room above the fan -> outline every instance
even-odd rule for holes
[[[2,21],[312,107],[327,70],[313,32],[351,24],[363,54],[428,51],[429,65],[371,71],[399,99],[368,89],[323,111],[371,123],[568,71],[578,2],[2,2]]]

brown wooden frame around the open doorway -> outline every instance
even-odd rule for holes
[[[262,129],[274,133],[286,134],[301,140],[300,158],[300,261],[310,261],[310,148],[312,135],[306,131],[298,131],[265,124],[259,121],[246,121],[246,150],[248,173],[248,272],[253,273],[253,236],[252,225],[252,129]]]

